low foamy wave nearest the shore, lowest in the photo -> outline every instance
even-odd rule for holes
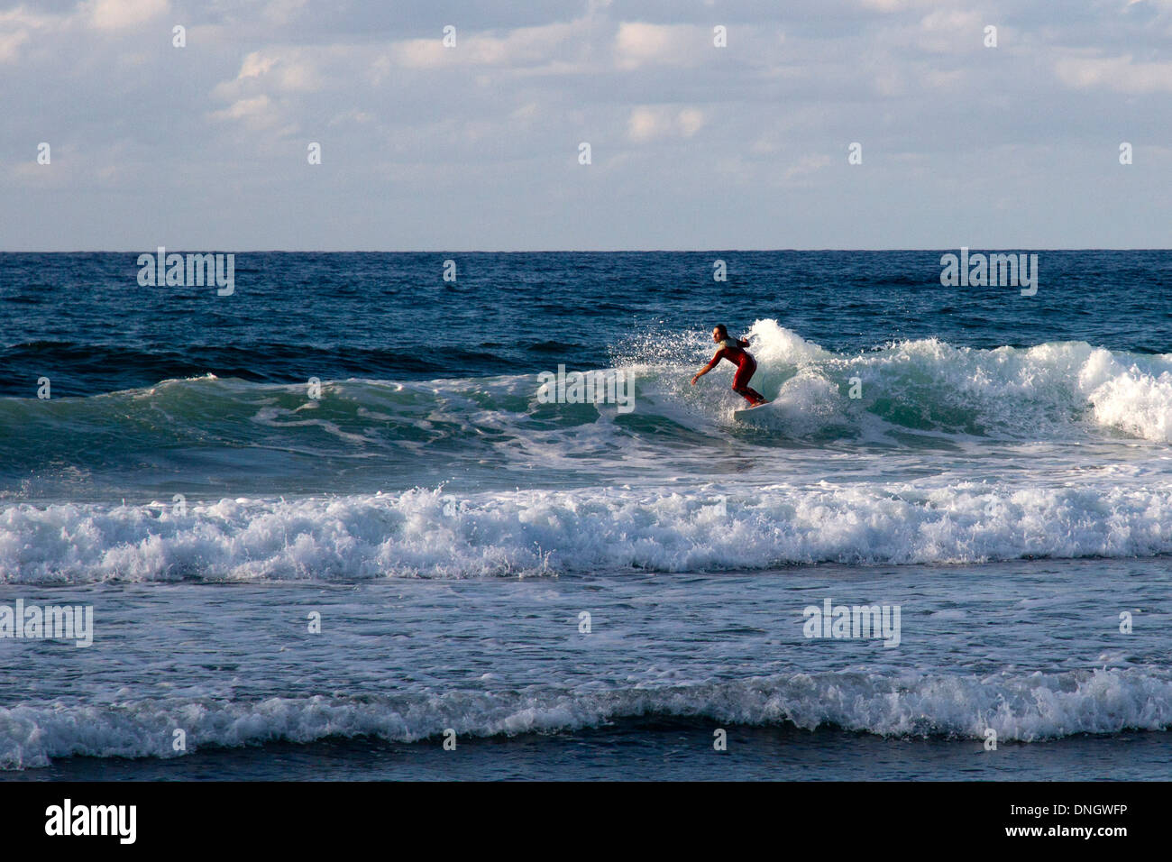
[[[175,698],[117,706],[50,704],[0,708],[0,768],[47,766],[73,755],[179,756],[188,751],[376,737],[414,742],[452,728],[497,737],[598,727],[624,718],[686,717],[722,724],[792,724],[881,737],[1034,742],[1172,726],[1172,680],[1139,668],[989,677],[905,672],[792,673],[665,688],[574,692],[541,687],[497,694],[270,698],[229,701]]]

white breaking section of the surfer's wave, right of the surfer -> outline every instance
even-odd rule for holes
[[[976,349],[933,338],[844,355],[775,320],[758,320],[751,332],[772,382],[766,394],[795,419],[858,426],[870,415],[897,429],[1010,440],[1098,429],[1172,441],[1172,354],[1115,353],[1084,341]]]

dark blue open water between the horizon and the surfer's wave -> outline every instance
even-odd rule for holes
[[[137,253],[4,253],[0,395],[27,398],[41,374],[60,395],[94,395],[209,373],[292,382],[599,367],[633,337],[757,318],[836,352],[932,337],[1172,352],[1172,252],[1044,251],[1035,297],[943,287],[941,253],[247,252],[231,297],[141,287]],[[713,279],[716,259],[725,283]]]

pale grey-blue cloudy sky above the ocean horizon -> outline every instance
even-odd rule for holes
[[[0,0],[0,99],[7,251],[1172,246],[1172,0]]]

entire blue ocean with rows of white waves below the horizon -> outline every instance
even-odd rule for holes
[[[959,251],[0,254],[0,778],[1168,779],[1172,251]]]

